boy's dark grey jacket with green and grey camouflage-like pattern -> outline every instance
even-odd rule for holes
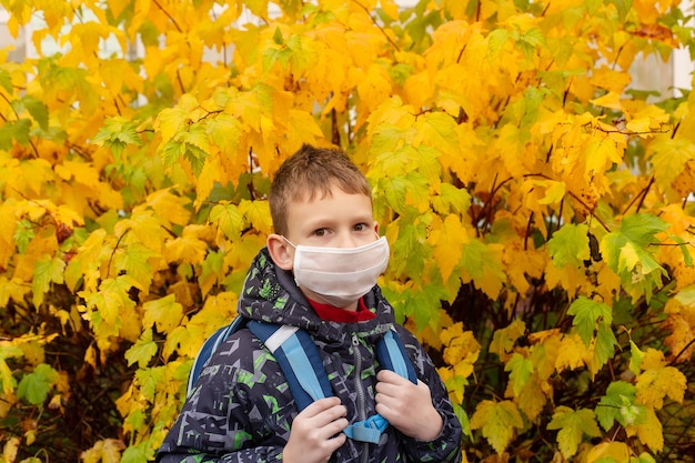
[[[374,345],[395,324],[393,309],[375,286],[364,296],[377,316],[360,323],[321,320],[290,272],[276,268],[263,249],[255,258],[239,301],[239,315],[298,325],[314,339],[334,393],[351,422],[375,413],[377,365]],[[389,426],[379,444],[348,440],[331,462],[461,461],[461,424],[436,370],[415,338],[396,330],[417,376],[430,386],[444,427],[432,442],[406,437]],[[357,393],[360,391],[361,393]],[[298,411],[279,364],[248,329],[230,336],[210,359],[161,445],[159,463],[282,461]]]

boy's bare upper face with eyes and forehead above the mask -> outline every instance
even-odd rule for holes
[[[336,187],[331,193],[311,202],[290,202],[286,238],[294,244],[330,248],[356,248],[376,241],[379,225],[370,198]],[[288,251],[294,253],[292,246]]]

